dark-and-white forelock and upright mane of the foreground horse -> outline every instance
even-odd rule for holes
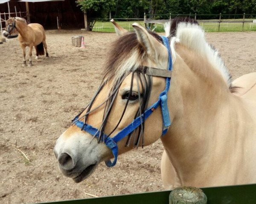
[[[204,30],[198,25],[196,20],[179,18],[172,20],[172,23],[168,23],[165,27],[166,37],[171,41],[173,60],[175,60],[176,55],[175,42],[180,42],[192,51],[205,56],[212,67],[220,72],[224,81],[230,90],[232,90],[229,71],[224,65],[218,51],[206,41]],[[158,34],[151,31],[149,31],[149,34],[162,43],[162,39]],[[148,60],[145,50],[137,40],[135,32],[128,32],[114,41],[109,56],[104,70],[104,78],[106,80],[118,80],[130,71],[136,70]],[[147,63],[149,64],[149,61]]]

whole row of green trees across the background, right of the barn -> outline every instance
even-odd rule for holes
[[[115,18],[143,18],[146,14],[154,19],[182,14],[255,14],[256,0],[76,0],[87,17],[87,28],[92,30],[93,18],[108,18],[109,11]],[[162,14],[161,16],[159,14]],[[166,14],[166,15],[163,15]],[[200,16],[198,16],[200,18]],[[212,16],[204,16],[211,18]],[[230,17],[230,16],[229,16]]]

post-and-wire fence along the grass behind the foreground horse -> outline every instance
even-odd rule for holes
[[[198,20],[198,23],[207,32],[228,32],[228,31],[256,31],[256,14],[144,14],[144,18],[114,18],[120,26],[128,31],[133,30],[134,22],[146,28],[164,32],[163,24],[175,17],[189,17]],[[93,19],[96,21],[93,31],[114,32],[111,19]]]

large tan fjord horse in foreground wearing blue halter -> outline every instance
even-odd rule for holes
[[[166,189],[256,183],[256,73],[232,82],[194,20],[173,20],[167,38],[114,24],[102,85],[55,144],[64,176],[161,139]]]

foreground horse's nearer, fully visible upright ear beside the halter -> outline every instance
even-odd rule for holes
[[[148,31],[138,23],[133,23],[132,26],[137,34],[140,44],[143,46],[148,56],[153,57],[155,60],[162,57],[162,54],[165,53],[164,51],[166,51],[164,45],[149,34]]]

